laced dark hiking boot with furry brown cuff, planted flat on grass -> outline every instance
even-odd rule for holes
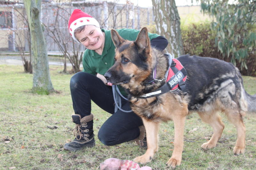
[[[84,116],[72,115],[72,121],[76,123],[73,130],[76,137],[72,142],[66,143],[64,149],[67,151],[78,151],[83,147],[93,147],[95,145],[93,134],[93,115]]]

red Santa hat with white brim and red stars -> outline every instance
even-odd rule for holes
[[[74,40],[79,42],[74,34],[74,31],[76,28],[80,26],[85,26],[85,25],[94,25],[100,28],[100,24],[98,21],[93,18],[91,15],[88,15],[87,13],[84,13],[83,11],[79,9],[75,9],[68,21],[68,30],[70,35],[73,37]]]

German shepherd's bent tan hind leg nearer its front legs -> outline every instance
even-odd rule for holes
[[[220,115],[216,111],[213,111],[212,113],[198,112],[198,115],[201,117],[202,121],[210,124],[213,129],[212,138],[208,142],[202,144],[201,147],[204,149],[211,149],[216,147],[216,144],[220,139],[223,129],[225,127],[224,124],[221,122]]]

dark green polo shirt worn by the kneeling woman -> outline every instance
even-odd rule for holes
[[[102,55],[99,55],[94,50],[86,49],[84,51],[83,71],[93,75],[96,75],[96,73],[104,75],[107,72],[107,70],[115,63],[116,47],[111,39],[111,33],[110,33],[111,30],[101,29],[101,31],[105,33],[105,44],[102,51]],[[135,41],[140,32],[135,29],[126,29],[126,28],[118,29],[116,31],[125,40],[130,40],[130,41]],[[158,34],[148,33],[148,37],[150,40],[158,36],[159,36]],[[119,86],[118,88],[123,95],[126,95],[126,93],[124,92],[124,89],[122,89]]]

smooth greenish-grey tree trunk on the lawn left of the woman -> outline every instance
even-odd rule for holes
[[[31,36],[33,65],[33,92],[49,94],[54,92],[49,72],[46,41],[40,21],[41,0],[24,0]]]

